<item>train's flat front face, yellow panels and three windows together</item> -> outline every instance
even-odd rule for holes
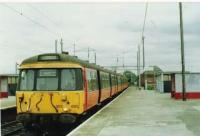
[[[20,66],[17,113],[84,112],[82,67],[76,63],[36,62]]]

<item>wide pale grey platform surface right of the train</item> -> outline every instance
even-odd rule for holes
[[[199,136],[200,100],[129,87],[69,136]]]

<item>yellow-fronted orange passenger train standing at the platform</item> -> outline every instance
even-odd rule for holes
[[[25,127],[77,118],[128,87],[122,74],[67,53],[27,58],[19,67],[17,120]]]

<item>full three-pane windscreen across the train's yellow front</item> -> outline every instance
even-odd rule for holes
[[[19,90],[82,90],[80,68],[21,70]]]

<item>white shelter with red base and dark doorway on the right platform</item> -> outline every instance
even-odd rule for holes
[[[186,98],[200,98],[200,73],[185,73]],[[182,74],[180,71],[156,73],[156,90],[171,93],[174,99],[182,98]]]

